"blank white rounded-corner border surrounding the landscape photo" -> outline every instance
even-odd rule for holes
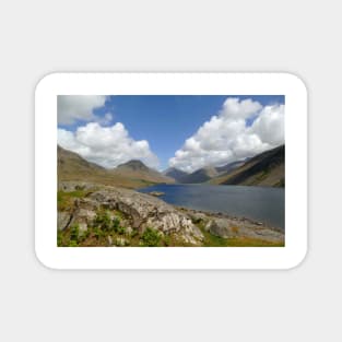
[[[57,95],[285,95],[285,247],[61,248]],[[35,248],[52,269],[290,269],[307,251],[307,92],[288,73],[54,73],[35,94]]]

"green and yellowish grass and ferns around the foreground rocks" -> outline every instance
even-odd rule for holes
[[[58,211],[72,212],[76,200],[84,199],[92,191],[79,188],[74,191],[59,190],[57,193]],[[224,238],[205,229],[203,222],[192,219],[204,238],[201,247],[282,247],[284,244],[272,243],[249,237]],[[238,231],[238,227],[236,227]],[[237,232],[236,231],[236,232]],[[73,223],[57,234],[59,247],[194,247],[185,243],[175,233],[163,233],[152,226],[144,229],[132,228],[127,214],[119,210],[101,207],[91,224]]]

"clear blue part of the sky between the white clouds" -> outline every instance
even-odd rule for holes
[[[146,140],[160,160],[160,169],[165,169],[175,152],[205,121],[220,113],[228,97],[251,99],[262,107],[279,106],[285,102],[283,95],[125,95],[107,96],[104,105],[94,108],[93,114],[101,121],[109,113],[111,119],[103,126],[121,122],[133,140]],[[256,118],[257,115],[248,117],[246,126],[252,125]],[[82,125],[84,121],[75,120],[71,125],[60,125],[59,128],[73,132]]]

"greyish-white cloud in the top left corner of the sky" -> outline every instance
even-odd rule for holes
[[[103,95],[59,95],[57,97],[58,123],[72,125],[76,120],[95,120],[93,109],[103,107],[105,102],[106,96]]]

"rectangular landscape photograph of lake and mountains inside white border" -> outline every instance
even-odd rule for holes
[[[58,247],[285,247],[285,95],[56,106]]]

